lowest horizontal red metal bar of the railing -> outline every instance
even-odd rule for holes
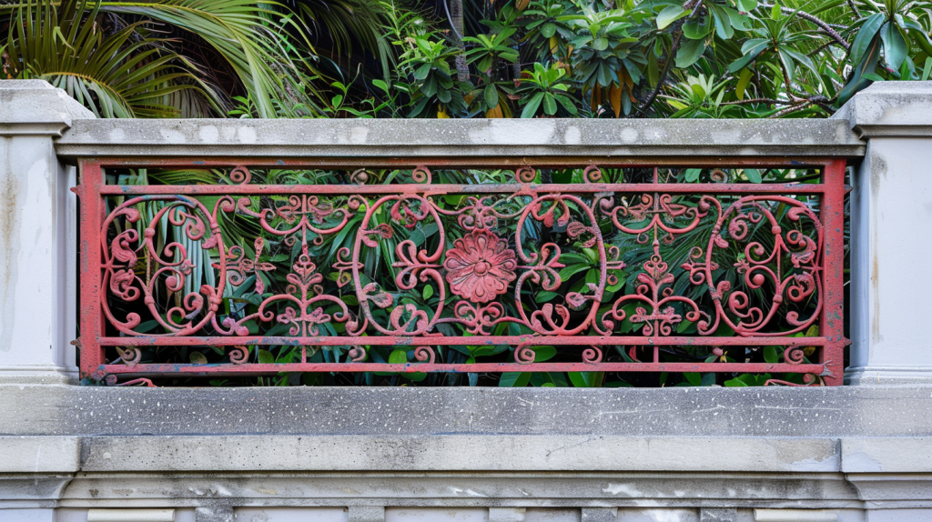
[[[416,372],[456,372],[456,373],[500,373],[506,371],[616,371],[616,372],[645,372],[645,371],[672,371],[672,372],[745,372],[745,373],[815,373],[820,374],[825,369],[823,365],[787,363],[530,363],[526,365],[517,363],[478,363],[442,364],[442,363],[281,363],[281,364],[217,364],[217,365],[173,365],[173,364],[137,364],[103,365],[100,367],[105,373],[139,374],[151,376],[154,374],[227,374],[227,375],[261,375],[288,371],[384,371],[392,373]]]

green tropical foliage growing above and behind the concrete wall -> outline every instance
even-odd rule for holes
[[[929,79],[930,31],[923,0],[0,0],[0,77],[46,79],[101,117],[826,117],[873,82]],[[222,176],[151,171],[114,182],[143,179]],[[222,224],[250,248],[254,223]],[[585,262],[574,284],[584,284]],[[549,379],[530,383],[596,384]]]

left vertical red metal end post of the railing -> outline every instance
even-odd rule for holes
[[[104,363],[103,348],[98,341],[103,337],[103,313],[101,300],[104,298],[101,269],[103,225],[103,197],[100,187],[103,185],[101,164],[91,160],[81,160],[79,184],[75,194],[80,200],[80,229],[78,258],[80,274],[80,338],[81,377],[88,377]]]

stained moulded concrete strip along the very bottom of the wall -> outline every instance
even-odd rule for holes
[[[6,482],[0,494],[8,498]],[[21,490],[20,501],[0,504],[0,519],[9,519],[9,509],[56,507],[72,514],[68,521],[89,509],[173,508],[193,512],[197,522],[865,522],[932,519],[929,490],[932,474],[904,482],[901,475],[839,473],[77,473],[63,488]],[[877,515],[894,511],[920,516]],[[268,518],[253,517],[262,513]]]

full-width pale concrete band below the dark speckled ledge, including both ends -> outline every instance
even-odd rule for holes
[[[930,437],[21,435],[0,436],[0,448],[0,473],[30,474],[380,470],[932,473]]]

